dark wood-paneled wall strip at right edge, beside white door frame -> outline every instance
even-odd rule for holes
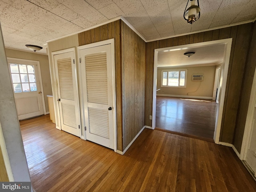
[[[240,105],[238,108],[238,116],[236,120],[236,132],[234,136],[234,146],[240,153],[242,140],[244,135],[244,125],[246,122],[246,116],[250,101],[250,94],[252,90],[252,81],[254,78],[254,72],[256,67],[256,23],[253,24],[253,31],[250,40],[250,50],[246,60],[246,66],[244,70],[244,79],[242,84],[242,90],[240,95]]]

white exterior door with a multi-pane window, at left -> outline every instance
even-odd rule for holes
[[[8,58],[18,119],[44,114],[38,61]]]

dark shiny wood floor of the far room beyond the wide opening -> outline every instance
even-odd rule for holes
[[[217,108],[213,100],[157,96],[156,128],[213,142]]]

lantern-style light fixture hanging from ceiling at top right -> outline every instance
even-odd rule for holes
[[[188,0],[188,2],[189,1],[191,2],[190,7],[187,9],[187,3],[183,17],[188,22],[188,24],[192,24],[200,18],[200,7],[199,0],[197,0],[197,5],[195,5],[196,0]]]

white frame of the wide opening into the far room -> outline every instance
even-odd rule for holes
[[[224,106],[224,97],[225,97],[225,91],[226,91],[226,81],[227,81],[227,75],[228,75],[228,65],[229,65],[229,59],[230,59],[230,50],[231,50],[231,44],[232,44],[232,38],[230,39],[224,39],[224,40],[216,40],[216,41],[210,41],[210,42],[202,42],[202,43],[195,43],[195,44],[187,44],[182,46],[174,46],[174,47],[168,47],[168,48],[160,48],[155,50],[154,54],[154,80],[153,80],[153,107],[152,107],[152,129],[156,128],[156,90],[157,90],[157,68],[158,68],[158,54],[160,52],[172,52],[176,50],[182,50],[186,52],[186,50],[189,50],[190,48],[198,48],[198,47],[204,47],[204,46],[214,46],[222,44],[224,45],[224,58],[223,62],[221,64],[221,70],[220,70],[220,80],[219,80],[219,93],[220,93],[220,101],[219,101],[219,107],[216,112],[216,122],[214,127],[214,142],[219,143],[219,137],[220,137],[220,127],[221,127],[221,121],[222,121],[222,113],[223,113],[223,106]]]

